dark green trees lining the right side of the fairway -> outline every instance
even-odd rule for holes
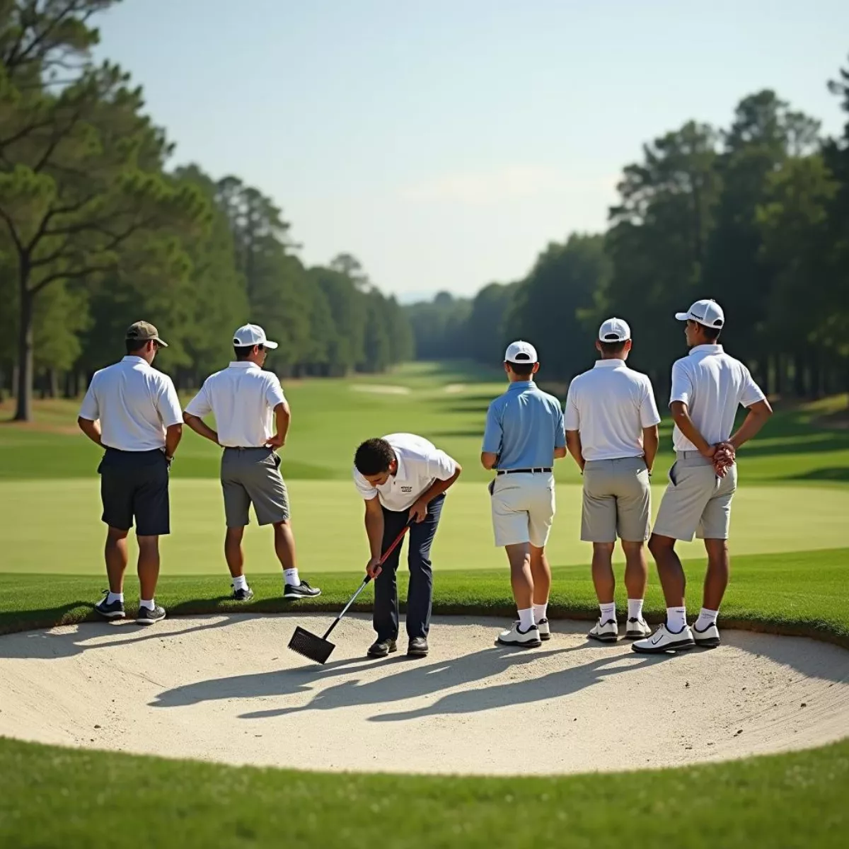
[[[420,358],[497,363],[518,337],[549,379],[588,368],[599,323],[631,323],[630,363],[665,391],[683,335],[673,318],[711,297],[722,342],[770,393],[849,389],[849,69],[829,90],[840,138],[773,91],[740,100],[730,126],[688,121],[644,145],[605,233],[550,244],[526,278],[474,298],[406,307]]]

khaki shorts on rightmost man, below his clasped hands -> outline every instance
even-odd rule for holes
[[[713,464],[694,451],[679,452],[669,469],[653,531],[689,543],[699,539],[728,539],[731,499],[737,489],[737,464],[719,478]]]

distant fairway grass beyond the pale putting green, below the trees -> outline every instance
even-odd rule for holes
[[[293,411],[283,453],[289,480],[347,479],[360,441],[398,430],[413,430],[435,441],[463,464],[464,480],[489,479],[479,455],[486,406],[505,386],[497,370],[412,363],[380,376],[284,384]],[[387,387],[394,391],[386,391]],[[664,416],[658,459],[662,475],[671,462],[672,437],[664,399],[658,401]],[[746,480],[849,481],[849,429],[826,426],[829,413],[842,403],[844,399],[836,397],[779,408],[762,436],[740,453]],[[98,449],[76,430],[78,409],[78,402],[37,402],[34,424],[0,424],[0,479],[92,478]],[[0,421],[12,412],[12,402],[0,404]],[[215,478],[218,457],[215,446],[187,433],[173,475]],[[558,467],[559,481],[580,481],[570,459]]]

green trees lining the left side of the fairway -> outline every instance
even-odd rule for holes
[[[169,343],[178,386],[232,358],[247,321],[278,340],[278,374],[378,372],[413,355],[402,308],[354,256],[306,267],[261,190],[173,145],[92,20],[120,0],[0,0],[0,397],[16,418],[76,396],[139,318]]]

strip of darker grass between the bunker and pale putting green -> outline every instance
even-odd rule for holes
[[[703,560],[685,564],[689,577],[690,613],[698,612],[704,579]],[[849,647],[849,548],[796,554],[751,555],[734,560],[734,576],[722,604],[722,621],[743,627],[760,627],[784,633],[805,633],[830,638]],[[587,566],[554,568],[550,615],[598,616],[593,583]],[[407,571],[399,571],[402,599]],[[357,587],[359,575],[326,573],[321,576],[323,595],[296,606],[281,599],[282,577],[251,578],[256,598],[250,604],[229,600],[229,579],[220,576],[166,576],[157,599],[175,614],[222,611],[267,612],[340,610]],[[70,624],[94,618],[93,602],[100,598],[104,576],[53,576],[0,574],[0,633],[32,627]],[[127,606],[136,602],[138,584],[127,581]],[[354,610],[371,610],[372,588],[366,588]],[[624,613],[625,588],[619,571],[617,600]],[[434,610],[447,614],[486,614],[512,617],[515,607],[505,569],[447,571],[434,582]],[[654,570],[649,576],[646,613],[659,620],[664,610]]]

